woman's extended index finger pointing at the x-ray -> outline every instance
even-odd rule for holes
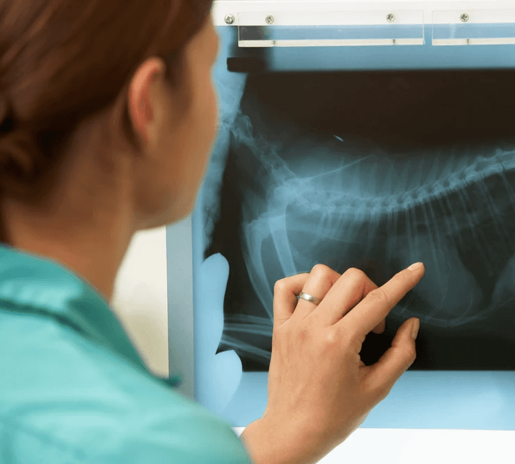
[[[336,325],[343,324],[347,328],[351,328],[356,335],[364,338],[420,282],[424,273],[425,267],[422,263],[411,264],[409,268],[395,274],[386,284],[370,291]]]

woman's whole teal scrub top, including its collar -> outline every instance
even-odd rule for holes
[[[85,280],[0,244],[1,464],[250,463],[177,380],[150,374]]]

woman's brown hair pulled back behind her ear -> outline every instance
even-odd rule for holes
[[[0,0],[0,189],[33,202],[54,186],[80,122],[128,92],[151,56],[175,86],[212,0]],[[127,141],[139,148],[127,111]],[[0,196],[1,200],[1,196]],[[0,241],[10,243],[0,219]]]

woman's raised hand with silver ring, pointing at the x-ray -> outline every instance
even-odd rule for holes
[[[386,398],[415,360],[418,320],[404,321],[374,365],[361,361],[361,346],[422,275],[424,266],[405,269],[378,288],[358,269],[340,275],[317,264],[276,282],[268,404],[241,435],[256,463],[316,463]],[[322,302],[297,302],[301,291]]]

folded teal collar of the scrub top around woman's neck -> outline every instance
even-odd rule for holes
[[[3,310],[53,317],[148,373],[106,299],[86,280],[52,259],[0,243],[0,305]],[[154,377],[172,387],[181,383],[180,376]]]

